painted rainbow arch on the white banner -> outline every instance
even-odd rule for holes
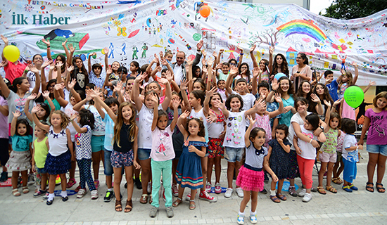
[[[317,25],[308,20],[291,20],[277,27],[277,30],[283,32],[285,37],[292,34],[304,34],[315,39],[317,42],[326,40],[326,34]]]

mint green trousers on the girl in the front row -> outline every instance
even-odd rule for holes
[[[152,197],[153,207],[159,207],[158,203],[158,191],[160,191],[160,179],[163,175],[163,186],[165,190],[165,207],[172,206],[172,160],[167,161],[154,161],[151,159],[152,167]]]

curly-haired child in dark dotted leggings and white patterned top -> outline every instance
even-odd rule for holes
[[[77,124],[75,118],[80,125]],[[75,134],[75,157],[80,168],[80,191],[77,198],[86,195],[86,183],[89,186],[91,199],[98,198],[98,191],[91,176],[91,130],[94,129],[94,114],[90,110],[82,109],[79,114],[71,116],[71,123],[77,134]]]

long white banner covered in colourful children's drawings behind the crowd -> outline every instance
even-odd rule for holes
[[[205,13],[210,15],[203,18],[201,9],[209,10]],[[93,63],[104,64],[103,48],[108,47],[109,63],[127,66],[132,60],[148,63],[154,53],[165,50],[184,51],[193,57],[201,39],[208,55],[225,49],[223,61],[238,58],[236,46],[241,46],[247,52],[243,61],[250,65],[252,44],[257,44],[258,60],[268,58],[269,46],[274,46],[274,54],[283,53],[289,67],[295,65],[297,53],[304,52],[312,68],[353,71],[351,63],[355,62],[360,70],[358,85],[369,81],[386,85],[386,13],[335,20],[291,4],[4,0],[0,33],[18,46],[23,60],[31,60],[35,53],[46,56],[42,38],[51,40],[53,55],[64,52],[61,44],[68,39],[82,59],[96,52]]]

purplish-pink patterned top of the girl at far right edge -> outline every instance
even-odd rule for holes
[[[387,144],[387,111],[375,113],[372,108],[365,111],[365,116],[369,118],[369,129],[367,134],[367,145]]]

